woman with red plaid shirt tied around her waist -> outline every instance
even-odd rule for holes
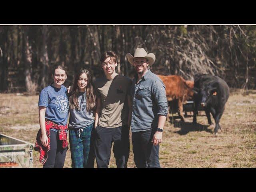
[[[44,88],[39,96],[40,130],[36,137],[35,150],[40,152],[43,168],[63,168],[68,149],[67,88],[62,84],[67,79],[63,66],[53,69],[53,84]]]

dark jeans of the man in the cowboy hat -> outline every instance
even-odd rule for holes
[[[137,168],[160,168],[159,144],[154,146],[151,142],[155,132],[132,132],[132,151]]]

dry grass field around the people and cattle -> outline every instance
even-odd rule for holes
[[[173,124],[169,118],[160,146],[163,168],[256,168],[256,148],[242,147],[256,147],[256,90],[244,95],[240,90],[231,90],[218,136],[213,133],[215,124],[208,126],[204,112],[198,116],[196,125],[191,123],[191,116],[186,122],[176,119]],[[0,94],[2,134],[34,144],[39,128],[38,96]],[[33,154],[34,167],[41,168],[39,153],[34,151]],[[71,167],[70,150],[64,167]],[[109,167],[116,167],[113,153]],[[135,167],[131,142],[128,167]]]

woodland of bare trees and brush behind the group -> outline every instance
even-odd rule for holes
[[[54,64],[68,67],[65,85],[80,68],[102,75],[100,55],[119,56],[117,72],[132,78],[125,55],[144,48],[156,55],[151,70],[194,80],[220,76],[232,88],[256,89],[256,26],[0,26],[0,92],[35,95],[52,82]]]

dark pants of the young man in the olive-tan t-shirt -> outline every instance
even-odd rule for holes
[[[127,168],[130,153],[129,129],[127,125],[116,128],[96,127],[95,159],[98,168],[108,168],[111,146],[117,168]]]

